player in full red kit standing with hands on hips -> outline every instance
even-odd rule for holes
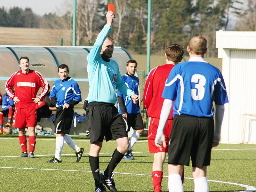
[[[19,140],[22,150],[20,157],[34,158],[36,111],[38,102],[43,100],[49,91],[49,84],[39,72],[29,69],[28,57],[21,57],[19,64],[21,70],[13,73],[10,79],[6,81],[5,90],[8,96],[16,103],[12,126],[19,128]],[[36,96],[40,87],[42,87],[42,92]],[[13,88],[15,89],[15,94],[13,93]],[[26,127],[28,127],[29,132],[29,154],[25,135]]]

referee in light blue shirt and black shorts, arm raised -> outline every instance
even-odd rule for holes
[[[124,122],[115,107],[116,88],[134,103],[139,100],[138,95],[124,84],[116,61],[110,59],[114,51],[114,43],[108,33],[111,30],[114,17],[115,14],[112,11],[106,14],[107,24],[99,33],[87,56],[87,72],[90,84],[87,98],[88,110],[86,111],[91,142],[89,162],[96,192],[106,192],[103,183],[110,191],[117,191],[113,180],[113,171],[129,148],[129,139]],[[115,139],[117,148],[106,170],[100,174],[99,154],[104,137],[106,141]]]

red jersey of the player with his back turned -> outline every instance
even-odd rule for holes
[[[173,67],[174,65],[172,64],[161,65],[153,68],[148,74],[143,94],[143,105],[149,117],[160,118],[164,102],[162,93],[164,91],[165,81]],[[168,119],[173,118],[172,113],[173,109]]]

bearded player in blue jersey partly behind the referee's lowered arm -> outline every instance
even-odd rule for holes
[[[127,73],[124,74],[123,79],[125,85],[135,92],[136,95],[139,95],[139,78],[134,76],[137,68],[136,60],[129,60],[126,63]],[[142,117],[140,115],[140,105],[139,103],[134,104],[131,100],[128,100],[125,95],[120,91],[117,91],[117,100],[119,103],[118,112],[124,119],[126,124],[127,133],[130,131],[131,127],[135,130],[130,139],[130,147],[127,152],[124,154],[124,159],[132,160],[134,156],[132,155],[132,147],[140,138],[141,133],[144,130]]]

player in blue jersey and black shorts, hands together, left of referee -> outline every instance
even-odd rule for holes
[[[64,143],[76,152],[76,162],[80,161],[84,152],[84,149],[78,147],[68,135],[74,115],[74,105],[82,101],[79,86],[75,80],[68,76],[68,73],[67,65],[63,64],[58,67],[60,79],[54,82],[50,92],[51,103],[57,107],[54,122],[56,146],[55,156],[47,163],[61,163]]]

